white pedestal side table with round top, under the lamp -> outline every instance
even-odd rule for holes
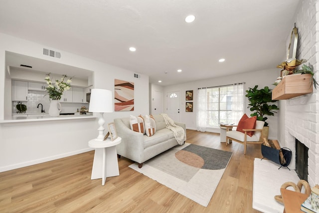
[[[89,147],[95,148],[91,180],[102,178],[102,186],[105,185],[107,177],[119,176],[119,163],[116,145],[121,143],[122,138],[114,141],[89,141]]]

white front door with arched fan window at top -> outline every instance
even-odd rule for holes
[[[180,92],[167,92],[167,115],[174,121],[180,121]]]

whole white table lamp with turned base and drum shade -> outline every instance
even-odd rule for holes
[[[95,141],[104,140],[104,117],[105,112],[113,112],[113,98],[112,91],[106,89],[92,89],[89,105],[89,112],[99,112],[99,135]]]

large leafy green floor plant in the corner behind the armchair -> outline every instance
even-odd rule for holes
[[[277,100],[272,100],[272,90],[269,89],[268,86],[265,86],[263,89],[257,89],[258,85],[254,88],[248,88],[246,90],[248,97],[248,107],[250,111],[255,111],[254,113],[250,114],[250,116],[257,116],[258,121],[264,121],[264,126],[268,126],[266,120],[268,119],[265,115],[274,116],[274,113],[277,113],[274,110],[279,110],[279,108],[275,104],[268,104],[272,102],[276,102]]]

